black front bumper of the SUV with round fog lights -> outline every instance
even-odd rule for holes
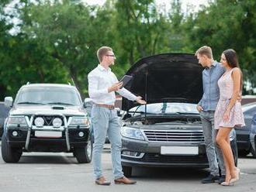
[[[36,127],[33,117],[27,120],[28,125],[8,125],[6,134],[9,145],[38,152],[71,152],[74,147],[85,147],[90,134],[89,126],[69,125],[64,116],[63,119],[64,124],[59,128],[51,125]]]

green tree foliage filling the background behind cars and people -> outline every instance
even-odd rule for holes
[[[16,34],[0,2],[0,98],[15,96],[31,83],[72,82],[88,94],[87,74],[99,63],[96,51],[111,46],[112,70],[122,77],[141,57],[157,53],[195,53],[213,48],[217,60],[233,48],[240,58],[244,81],[256,85],[256,2],[216,0],[199,12],[182,12],[181,1],[170,0],[168,12],[154,0],[107,0],[90,6],[79,0],[20,0]],[[249,93],[252,93],[252,91]]]

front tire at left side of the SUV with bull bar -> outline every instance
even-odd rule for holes
[[[22,149],[16,149],[9,146],[6,135],[2,135],[2,159],[5,163],[18,163],[22,156]]]

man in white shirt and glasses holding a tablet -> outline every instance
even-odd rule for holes
[[[92,106],[92,126],[95,136],[93,146],[95,183],[99,185],[110,185],[110,182],[102,175],[101,163],[102,149],[106,134],[108,134],[111,142],[115,183],[134,184],[136,181],[124,177],[121,166],[122,142],[119,120],[114,107],[116,101],[115,91],[124,98],[137,101],[141,105],[146,104],[146,101],[122,88],[123,83],[117,80],[116,75],[109,68],[109,66],[114,65],[116,59],[110,47],[102,46],[99,48],[97,56],[99,58],[99,65],[88,74],[88,94],[94,103]]]

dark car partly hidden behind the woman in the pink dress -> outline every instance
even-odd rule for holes
[[[242,105],[244,113],[244,127],[236,126],[237,133],[237,149],[240,156],[247,156],[252,150],[250,143],[251,122],[254,114],[256,114],[256,102]]]

